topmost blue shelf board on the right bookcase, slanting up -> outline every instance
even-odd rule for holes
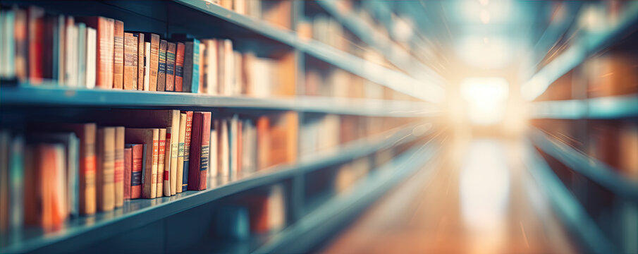
[[[547,63],[522,85],[523,97],[529,101],[539,97],[558,78],[579,66],[590,56],[613,45],[615,40],[625,35],[627,30],[634,28],[638,24],[638,1],[627,1],[617,20],[608,28],[600,31],[583,32],[582,36],[570,44],[565,51]]]

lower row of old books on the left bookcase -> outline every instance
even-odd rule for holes
[[[237,179],[297,157],[295,112],[240,119],[114,109],[99,119],[0,131],[0,229],[57,229],[68,217],[202,191],[218,177]]]

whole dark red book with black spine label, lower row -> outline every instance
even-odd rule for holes
[[[210,158],[211,112],[192,114],[188,190],[206,190]]]

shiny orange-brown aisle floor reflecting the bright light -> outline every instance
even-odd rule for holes
[[[490,139],[448,145],[322,251],[574,253],[520,148]]]

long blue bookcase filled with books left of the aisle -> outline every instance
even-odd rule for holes
[[[406,69],[412,66],[405,63],[395,66],[395,56],[388,59],[388,55],[384,55],[385,47],[369,47],[367,43],[372,41],[355,39],[350,31],[343,30],[343,35],[351,39],[348,47],[331,44],[325,38],[313,38],[312,32],[308,36],[307,31],[303,31],[307,28],[301,28],[303,25],[300,23],[308,18],[305,8],[309,4],[314,3],[252,0],[2,1],[0,33],[3,36],[13,32],[8,30],[13,29],[11,22],[18,23],[20,17],[25,18],[20,15],[29,13],[30,18],[36,18],[35,21],[27,20],[29,23],[25,28],[16,26],[16,30],[30,32],[25,39],[30,43],[25,51],[20,49],[15,55],[7,53],[11,52],[4,50],[8,49],[8,45],[19,49],[22,41],[0,40],[0,48],[3,49],[0,50],[0,154],[2,158],[8,158],[0,162],[0,169],[2,179],[11,176],[11,181],[3,180],[0,188],[2,193],[9,193],[9,190],[12,193],[11,197],[3,195],[0,200],[11,202],[8,206],[11,210],[3,211],[0,218],[0,253],[94,250],[172,253],[192,248],[210,252],[266,253],[280,250],[283,244],[295,242],[302,235],[308,237],[305,238],[307,243],[318,243],[327,232],[337,229],[337,222],[360,212],[392,186],[420,169],[434,156],[438,146],[438,143],[429,143],[427,147],[421,144],[435,140],[441,134],[438,126],[433,125],[434,119],[441,116],[437,104],[444,95],[441,77],[432,71],[427,71],[429,75],[425,79],[424,76],[412,75],[417,72]],[[359,11],[366,10],[360,8]],[[78,56],[80,63],[77,66],[71,65],[71,60],[61,60],[63,49],[68,49],[65,57],[73,52],[71,49],[75,47],[68,44],[82,32],[75,35],[73,32],[69,32],[70,35],[46,34],[42,44],[31,44],[37,38],[34,32],[37,25],[32,26],[39,24],[37,17],[42,18],[43,25],[52,25],[51,31],[94,28],[97,38],[101,38],[101,25],[84,25],[88,19],[78,18],[86,16],[106,18],[98,18],[99,22],[109,18],[122,21],[119,24],[123,24],[123,28],[119,29],[125,32],[125,42],[120,48],[123,48],[123,59],[117,59],[118,52],[114,52],[116,56],[109,56],[114,66],[123,64],[123,81],[120,81],[119,87],[115,80],[112,86],[110,81],[103,83],[101,69],[91,70],[82,65],[90,63],[90,60],[84,61]],[[73,17],[76,17],[75,20]],[[122,31],[117,25],[116,22],[116,49],[117,32]],[[339,25],[353,29],[350,24]],[[159,38],[156,48],[159,51],[157,83],[147,80],[150,76],[155,77],[154,74],[145,73],[142,67],[128,65],[126,40],[130,39],[127,37],[129,33],[134,34],[135,42],[142,44],[139,48],[133,47],[137,52],[135,59],[148,52],[149,56],[155,57],[155,46],[150,45],[157,43],[152,38]],[[142,34],[146,36],[147,45],[137,39],[142,38]],[[61,37],[66,38],[68,43],[57,41],[62,40]],[[53,45],[48,44],[49,40],[54,42]],[[75,46],[82,43],[90,45],[85,41]],[[166,43],[168,47],[159,46]],[[182,43],[186,45],[186,56],[181,55],[180,58]],[[171,44],[176,45],[175,52],[171,52]],[[104,57],[99,53],[104,46],[97,45],[94,49],[97,57]],[[362,54],[359,50],[362,48],[368,53]],[[37,50],[33,49],[42,49],[42,52],[34,53]],[[147,52],[140,51],[142,49]],[[86,55],[91,54],[89,49],[82,50]],[[405,47],[401,50],[405,56],[410,55],[410,50]],[[216,55],[211,56],[211,52]],[[41,53],[44,54],[42,63],[33,61],[39,59],[37,54]],[[175,63],[170,63],[171,53],[175,54]],[[194,55],[200,59],[189,60]],[[19,62],[24,56],[30,59],[29,64]],[[179,59],[185,62],[180,63]],[[6,63],[13,61],[16,61],[15,67],[6,68]],[[99,59],[94,61],[100,63]],[[136,63],[152,68],[153,60],[150,63],[141,61],[147,60],[140,58]],[[162,64],[164,68],[170,65],[172,71],[168,68],[162,70]],[[182,68],[180,64],[183,64],[185,72],[180,73],[183,86],[178,89],[177,68]],[[217,68],[209,67],[211,64]],[[126,69],[130,66],[140,71],[133,72],[135,79],[140,81],[136,86],[126,88],[127,82],[129,85],[131,82],[130,72]],[[195,73],[195,66],[200,73]],[[40,67],[43,73],[38,73]],[[85,72],[94,73],[95,80],[86,78]],[[115,77],[113,73],[117,71],[111,72],[109,75]],[[174,75],[175,80],[168,81],[168,75]],[[151,85],[147,87],[147,83]],[[167,114],[168,119],[164,119]],[[196,115],[192,116],[192,123],[190,114]],[[206,117],[210,118],[209,125],[205,123]],[[192,133],[183,133],[182,121]],[[82,123],[82,128],[94,128],[93,135],[97,135],[97,141],[89,145],[87,134],[70,131],[67,123]],[[169,141],[169,130],[172,128],[174,131],[178,126],[180,132],[172,133],[173,140]],[[130,140],[128,134],[125,138],[118,134],[118,130],[128,133],[134,128],[155,130],[159,138],[146,142]],[[111,130],[115,130],[114,135],[106,134]],[[73,138],[69,142],[76,142],[76,145],[51,141],[59,138],[59,131],[66,131],[64,135],[70,134],[68,137]],[[182,135],[193,140],[183,141]],[[116,165],[116,201],[114,207],[109,208],[104,200],[112,198],[112,193],[102,196],[109,192],[106,187],[108,181],[100,178],[110,174],[105,173],[110,169],[104,164],[104,160],[108,160],[104,150],[110,149],[109,145],[105,145],[109,142],[105,140],[113,136],[116,140],[113,150],[116,153],[113,161]],[[118,137],[125,140],[126,147],[144,143],[143,156],[135,155],[131,150],[133,146],[129,150],[121,147],[123,143],[117,141],[120,140]],[[156,141],[159,145],[155,144]],[[208,141],[209,147],[206,145]],[[173,167],[176,166],[171,161],[178,158],[174,157],[178,152],[171,144],[179,144],[181,151],[181,145],[186,147],[188,142],[197,142],[201,147],[193,145],[179,155],[186,161],[190,157],[191,163],[190,167],[183,164],[184,179],[180,183],[179,173],[173,180],[176,176]],[[149,150],[146,150],[147,145]],[[89,162],[83,157],[87,150],[95,150],[94,156],[97,157],[97,164],[94,164],[98,177],[94,184],[99,190],[97,211],[78,212],[73,206],[78,202],[80,191],[77,186],[73,187],[78,182],[72,181],[79,181],[84,193],[85,187],[82,186],[89,181],[84,179],[85,167],[89,167],[85,166]],[[126,159],[121,160],[118,155],[121,151],[133,157],[133,164]],[[161,155],[152,163],[153,167],[157,163],[158,187],[157,193],[152,196],[155,198],[152,198],[145,195],[147,185],[151,186],[150,189],[156,188],[149,183],[154,182],[149,180],[152,175],[146,176],[153,159],[146,162],[157,153]],[[44,159],[45,155],[55,155],[55,163]],[[72,155],[76,156],[75,159],[71,158]],[[204,155],[209,157],[204,159]],[[147,178],[137,183],[142,185],[143,198],[130,196],[128,199],[124,194],[122,200],[118,184],[124,184],[125,189],[136,186],[133,183],[136,181],[135,158],[138,157],[140,164],[144,161],[140,167],[141,177]],[[165,158],[166,163],[161,158]],[[30,159],[35,165],[30,164]],[[73,171],[71,162],[78,167],[74,171],[75,176],[69,173]],[[117,166],[123,163],[128,163],[128,166]],[[188,177],[186,172],[192,170],[193,163],[197,165],[195,169],[201,167],[201,171],[197,172],[206,171],[207,174],[202,175],[205,179],[192,180],[192,174]],[[161,167],[164,167],[164,173]],[[55,170],[57,177],[51,182],[55,182],[56,186],[63,184],[60,185],[63,191],[56,191],[53,200],[47,200],[48,205],[43,206],[49,207],[51,203],[66,205],[68,210],[52,215],[48,210],[36,209],[27,214],[27,218],[16,215],[35,205],[30,188],[35,186],[33,188],[38,191],[49,190],[44,186],[49,182],[48,176],[32,178],[32,172],[49,169]],[[123,173],[121,170],[124,170]],[[126,170],[133,170],[133,174]],[[156,170],[153,169],[153,172],[155,174]],[[21,179],[20,174],[27,176]],[[118,174],[129,174],[129,179],[124,176],[124,180],[118,180]],[[171,180],[168,180],[169,177]],[[307,184],[315,179],[325,184]],[[130,186],[126,181],[130,181]],[[164,188],[159,187],[162,182]],[[168,186],[169,183],[171,186]],[[188,189],[185,187],[187,183]],[[198,184],[200,189],[192,190],[193,183]],[[177,188],[177,193],[171,193],[171,188],[173,192]],[[16,203],[16,200],[21,200],[16,199],[18,195],[27,195],[24,200],[28,204]],[[80,207],[96,202],[82,198],[82,195],[88,194],[79,195]],[[317,197],[325,198],[318,201]],[[266,212],[270,215],[266,216]],[[321,234],[309,231],[315,226],[322,227],[319,230]],[[312,247],[295,248],[304,251]]]

